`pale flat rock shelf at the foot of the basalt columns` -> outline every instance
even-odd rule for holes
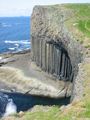
[[[72,84],[58,81],[56,77],[43,72],[32,62],[30,51],[1,54],[0,57],[0,91],[52,98],[71,95]]]

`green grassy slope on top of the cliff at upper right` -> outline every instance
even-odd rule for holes
[[[73,13],[66,22],[68,29],[79,39],[80,43],[87,46],[90,44],[90,4],[66,4],[65,8]]]

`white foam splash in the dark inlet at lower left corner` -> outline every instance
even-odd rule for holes
[[[16,105],[14,104],[12,99],[9,99],[8,104],[6,106],[4,117],[11,115],[11,114],[15,114],[16,112],[17,112]]]

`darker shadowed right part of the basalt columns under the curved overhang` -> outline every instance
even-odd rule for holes
[[[48,72],[52,71],[51,73],[56,74],[59,80],[72,82],[74,77],[73,68],[70,57],[67,50],[64,48],[64,45],[61,42],[55,41],[48,41],[47,44],[49,44],[49,51],[50,47],[53,49],[53,51],[51,50],[53,53],[49,53],[49,56],[52,54],[51,59],[54,65],[54,69],[51,70],[52,68],[50,67]]]

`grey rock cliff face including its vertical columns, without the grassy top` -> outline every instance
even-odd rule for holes
[[[78,64],[82,61],[81,45],[65,26],[73,15],[70,9],[56,5],[36,6],[31,17],[32,60],[59,81],[71,82],[72,96],[78,91],[81,94],[75,81],[79,79]]]

